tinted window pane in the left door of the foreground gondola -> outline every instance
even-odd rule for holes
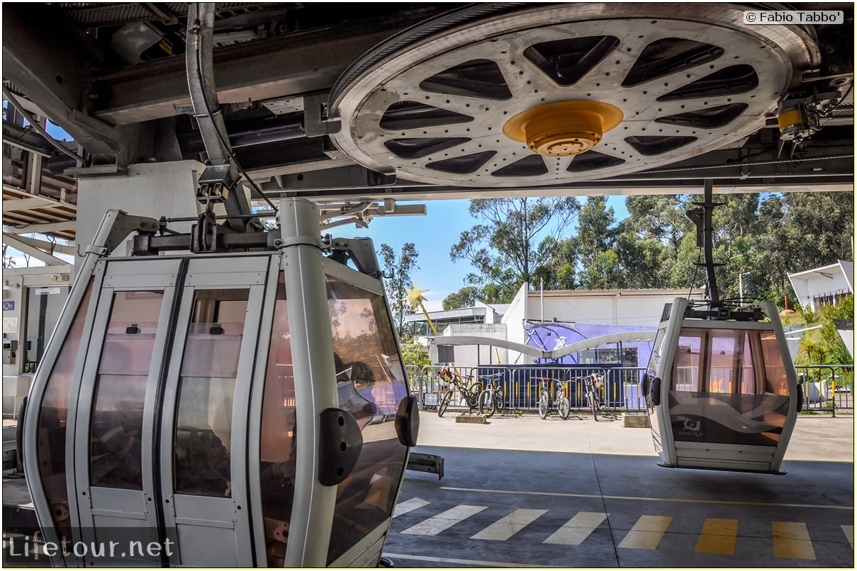
[[[143,404],[163,300],[152,291],[113,296],[90,426],[92,485],[143,489]]]

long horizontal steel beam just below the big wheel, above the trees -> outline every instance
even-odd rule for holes
[[[668,167],[600,181],[544,187],[472,188],[427,185],[382,175],[333,160],[289,164],[258,171],[267,193],[325,200],[431,200],[506,196],[698,193],[701,181],[715,181],[717,193],[772,193],[854,190],[852,129],[830,128],[794,157],[778,152],[777,139],[708,152]],[[305,167],[305,168],[302,168]],[[329,168],[326,168],[329,167]],[[251,175],[255,173],[251,171]]]

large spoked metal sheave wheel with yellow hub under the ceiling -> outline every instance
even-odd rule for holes
[[[745,26],[744,9],[542,4],[430,22],[346,72],[333,140],[371,170],[467,187],[673,164],[764,127],[818,64],[804,30]]]

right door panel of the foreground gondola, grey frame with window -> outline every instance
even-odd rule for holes
[[[172,565],[250,567],[247,426],[268,256],[192,259],[163,395],[159,460]]]

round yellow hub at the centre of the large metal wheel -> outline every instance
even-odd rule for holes
[[[503,125],[503,134],[545,157],[568,157],[596,146],[622,117],[622,111],[608,103],[560,101],[518,113]]]

